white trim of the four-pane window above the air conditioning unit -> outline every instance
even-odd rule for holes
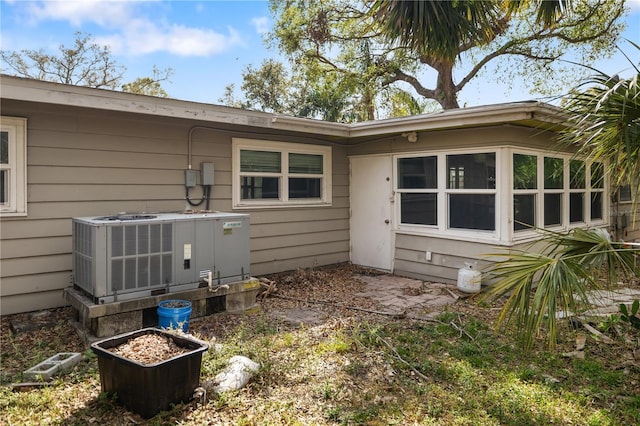
[[[276,174],[277,176],[282,176],[283,179],[280,181],[280,198],[275,199],[265,199],[265,200],[242,200],[241,193],[241,177],[243,175],[256,175],[255,173],[247,173],[243,174],[240,172],[240,151],[241,150],[251,150],[251,151],[277,151],[283,154],[288,153],[297,153],[297,154],[313,154],[313,155],[322,155],[323,164],[323,176],[322,176],[322,193],[320,194],[320,199],[288,199],[288,181],[287,177],[289,176],[288,171],[281,171],[281,173]],[[286,157],[286,155],[283,155]],[[283,164],[286,164],[283,163]],[[234,209],[255,209],[255,208],[291,208],[291,207],[325,207],[331,206],[333,203],[332,196],[332,152],[330,146],[324,145],[307,145],[300,143],[290,143],[290,142],[277,142],[277,141],[269,141],[262,139],[243,139],[243,138],[233,138],[232,139],[232,175],[233,175],[233,184],[232,184],[232,201]],[[284,166],[283,166],[284,168]],[[268,176],[273,175],[269,173],[259,173],[260,176]],[[275,176],[275,175],[274,175]],[[296,177],[305,177],[307,175],[296,175]],[[314,175],[315,176],[315,175]]]

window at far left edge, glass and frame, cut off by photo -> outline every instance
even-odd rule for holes
[[[0,117],[0,212],[3,216],[27,212],[27,120]]]

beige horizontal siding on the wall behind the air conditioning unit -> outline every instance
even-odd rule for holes
[[[2,100],[2,115],[27,121],[26,217],[0,221],[0,312],[62,306],[71,276],[71,218],[187,208],[188,134],[208,123]],[[227,126],[228,127],[228,126]],[[264,134],[267,133],[267,134]],[[259,139],[305,143],[305,135],[263,131]],[[212,162],[210,208],[231,211],[231,138],[257,129],[196,129],[192,164]],[[318,143],[318,136],[313,136]],[[251,214],[252,274],[349,259],[348,161],[333,149],[330,207],[242,210]],[[201,189],[192,189],[199,200]]]

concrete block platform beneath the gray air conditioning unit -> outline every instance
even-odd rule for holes
[[[168,299],[191,302],[191,319],[229,312],[240,313],[257,307],[260,282],[256,278],[217,286],[176,291],[156,296],[96,304],[76,288],[67,287],[64,297],[73,307],[81,326],[97,338],[111,337],[145,327],[158,326],[158,303]]]

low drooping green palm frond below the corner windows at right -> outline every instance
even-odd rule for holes
[[[518,340],[531,349],[542,331],[553,348],[558,335],[559,313],[577,314],[589,304],[589,290],[599,288],[599,274],[607,272],[607,283],[617,271],[638,274],[633,250],[612,243],[600,230],[574,229],[568,233],[540,230],[542,247],[512,250],[486,272],[491,285],[484,299],[505,298],[497,326],[514,323]]]

